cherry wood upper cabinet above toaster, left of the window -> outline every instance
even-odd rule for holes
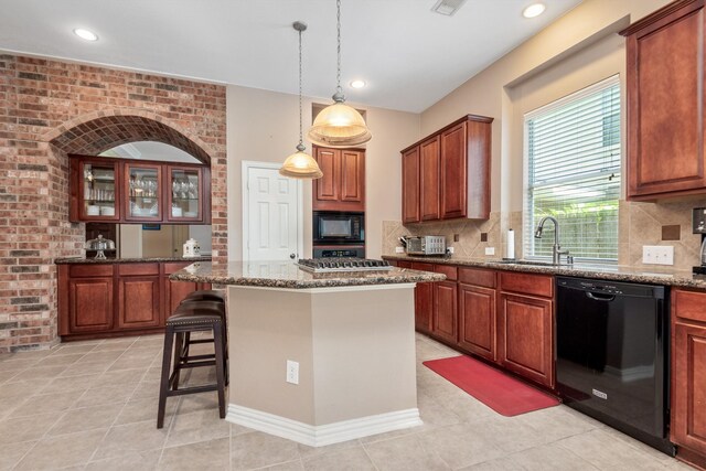
[[[402,151],[403,223],[490,217],[492,122],[468,115]]]

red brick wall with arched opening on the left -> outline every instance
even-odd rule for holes
[[[211,163],[213,255],[227,259],[225,87],[0,55],[0,352],[57,342],[56,257],[83,255],[68,222],[67,153],[137,140]]]

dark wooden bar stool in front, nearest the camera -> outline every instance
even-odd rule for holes
[[[213,333],[212,339],[191,339],[192,332],[208,331]],[[225,385],[227,384],[225,332],[225,309],[223,303],[217,301],[184,303],[176,308],[174,313],[167,320],[157,428],[164,426],[167,398],[185,394],[217,390],[220,416],[225,418]],[[191,355],[189,353],[190,345],[206,342],[213,342],[214,353],[203,355]],[[215,384],[179,388],[179,378],[182,370],[214,365],[216,367]]]

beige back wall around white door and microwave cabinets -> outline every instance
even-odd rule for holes
[[[228,86],[228,257],[243,257],[242,162],[281,163],[299,140],[296,95]],[[317,103],[328,104],[328,99]],[[311,98],[303,100],[304,144],[311,122]],[[383,221],[400,220],[402,164],[399,150],[419,138],[419,115],[365,108],[373,140],[366,144],[366,247],[377,258],[382,250]],[[303,183],[304,256],[311,255],[311,182]]]

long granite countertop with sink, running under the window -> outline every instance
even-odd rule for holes
[[[560,275],[613,281],[631,281],[652,285],[677,286],[706,289],[706,276],[694,275],[688,270],[675,270],[668,267],[628,267],[620,265],[526,265],[506,263],[500,259],[463,258],[463,257],[422,257],[407,255],[384,255],[385,260],[421,261],[437,265],[457,265],[475,268],[492,268],[495,270],[523,271],[530,274]]]

